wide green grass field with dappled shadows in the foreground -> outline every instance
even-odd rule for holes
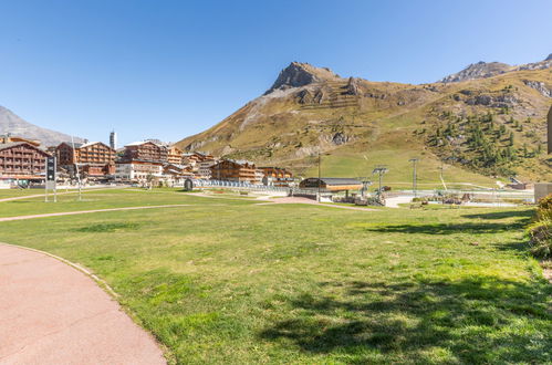
[[[550,363],[532,209],[344,210],[174,190],[1,202],[0,241],[81,263],[176,363]],[[23,202],[24,201],[24,202]]]

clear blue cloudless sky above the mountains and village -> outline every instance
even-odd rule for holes
[[[292,61],[418,84],[552,53],[550,0],[0,0],[0,105],[119,145],[202,132]]]

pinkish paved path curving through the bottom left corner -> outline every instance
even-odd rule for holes
[[[0,244],[0,364],[165,364],[163,353],[83,272]]]

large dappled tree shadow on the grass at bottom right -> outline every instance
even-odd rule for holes
[[[332,295],[289,300],[285,305],[293,315],[260,336],[287,338],[305,352],[333,353],[353,363],[373,361],[373,354],[384,356],[385,362],[550,361],[552,316],[546,298],[552,293],[545,282],[488,277],[327,285],[323,289],[333,289]],[[440,361],[436,358],[439,351],[447,354]]]

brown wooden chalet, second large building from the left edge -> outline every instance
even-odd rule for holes
[[[115,150],[101,142],[61,143],[55,148],[58,166],[74,175],[79,166],[84,177],[101,178],[115,174]]]

